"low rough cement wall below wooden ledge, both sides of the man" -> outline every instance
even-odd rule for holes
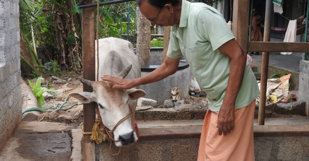
[[[106,161],[196,161],[199,140],[154,139],[138,140],[121,148],[117,156],[109,154],[109,142],[96,145],[96,160]],[[307,161],[309,136],[258,136],[254,137],[256,161]],[[113,153],[118,151],[112,147]]]

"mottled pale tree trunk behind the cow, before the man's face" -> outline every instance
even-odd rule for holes
[[[138,11],[139,12],[139,8]],[[150,65],[150,22],[142,14],[137,17],[136,55],[141,66]]]

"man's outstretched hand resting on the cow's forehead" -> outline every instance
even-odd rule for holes
[[[116,85],[113,85],[112,89],[131,89],[135,86],[137,86],[136,81],[133,81],[133,79],[123,79],[119,77],[113,77],[110,75],[104,74],[103,77],[101,77],[104,81],[115,83]]]

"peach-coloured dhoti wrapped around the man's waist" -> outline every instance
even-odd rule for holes
[[[218,112],[208,110],[202,127],[198,161],[254,161],[253,119],[255,100],[235,110],[235,128],[218,134]]]

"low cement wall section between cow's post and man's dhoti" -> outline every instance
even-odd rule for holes
[[[121,148],[121,153],[112,156],[109,142],[96,145],[97,161],[196,161],[200,139],[155,139],[138,140]],[[113,153],[119,148],[112,146]]]

